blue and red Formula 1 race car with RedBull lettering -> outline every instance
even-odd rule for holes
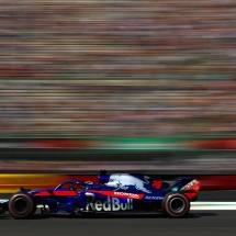
[[[55,189],[26,190],[20,188],[10,200],[1,200],[1,213],[14,218],[29,218],[37,209],[42,214],[60,211],[72,215],[88,213],[157,212],[170,217],[182,217],[195,201],[201,182],[179,178],[172,183],[142,173],[101,171],[99,183],[68,180]]]

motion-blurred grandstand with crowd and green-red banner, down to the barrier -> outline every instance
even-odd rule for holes
[[[0,171],[236,173],[234,0],[0,0]]]

